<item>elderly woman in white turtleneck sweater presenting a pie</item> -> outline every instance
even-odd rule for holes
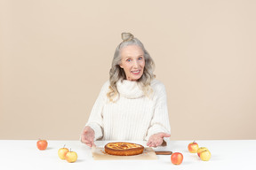
[[[122,39],[81,141],[92,147],[98,139],[146,140],[157,147],[171,136],[164,84],[156,81],[154,61],[140,40],[130,33]]]

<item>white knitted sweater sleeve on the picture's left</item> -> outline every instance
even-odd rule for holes
[[[107,81],[102,88],[100,89],[100,94],[97,97],[90,114],[89,120],[85,126],[89,126],[94,130],[95,140],[100,139],[103,136],[103,118],[102,118],[102,109],[107,101],[109,81]]]

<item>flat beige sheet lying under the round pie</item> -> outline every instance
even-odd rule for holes
[[[134,156],[115,156],[109,155],[104,151],[104,148],[92,147],[92,157],[94,160],[152,160],[158,159],[155,151],[152,148],[144,148],[143,153]]]

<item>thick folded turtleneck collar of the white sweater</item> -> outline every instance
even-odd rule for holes
[[[119,80],[116,82],[116,88],[122,97],[139,98],[144,95],[137,81]]]

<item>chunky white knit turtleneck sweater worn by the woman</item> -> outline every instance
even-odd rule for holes
[[[95,140],[148,141],[150,135],[171,132],[164,84],[152,81],[152,97],[144,96],[137,81],[117,81],[119,98],[109,102],[109,81],[100,90],[85,126],[95,132]]]

